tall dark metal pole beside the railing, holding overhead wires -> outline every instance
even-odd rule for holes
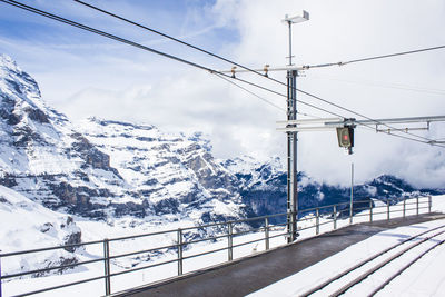
[[[291,58],[291,24],[309,19],[309,13],[303,11],[303,17],[285,17],[284,22],[289,27],[289,67],[293,66]],[[297,76],[298,70],[287,70],[287,120],[297,120]],[[295,125],[288,125],[288,128]],[[297,239],[297,210],[298,210],[298,184],[297,184],[297,132],[287,132],[287,242]]]

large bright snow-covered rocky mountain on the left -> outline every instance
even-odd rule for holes
[[[7,56],[0,96],[0,184],[46,207],[96,219],[246,216],[236,179],[199,135],[97,119],[77,129]]]

